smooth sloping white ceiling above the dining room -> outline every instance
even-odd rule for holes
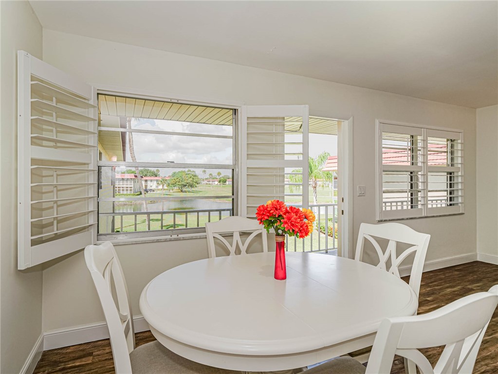
[[[498,102],[498,2],[31,1],[43,27],[444,103]]]

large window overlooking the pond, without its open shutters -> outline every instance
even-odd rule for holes
[[[235,110],[99,95],[99,240],[204,232],[234,215]]]

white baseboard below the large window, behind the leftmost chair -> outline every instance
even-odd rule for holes
[[[148,323],[141,315],[133,317],[133,327],[135,333],[150,330]],[[44,334],[43,350],[48,351],[102,339],[109,339],[109,329],[105,322],[47,331]]]

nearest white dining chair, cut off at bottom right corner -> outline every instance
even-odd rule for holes
[[[421,374],[471,374],[497,305],[495,285],[488,292],[465,296],[430,313],[387,318],[379,326],[367,368],[341,357],[306,374],[390,373],[394,355],[415,363]],[[433,368],[419,349],[439,346],[445,348]]]

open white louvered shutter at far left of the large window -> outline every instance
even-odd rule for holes
[[[97,241],[97,94],[18,51],[18,268]]]

